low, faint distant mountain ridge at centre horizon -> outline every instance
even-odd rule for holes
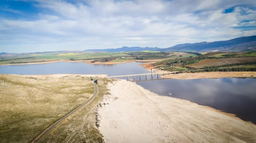
[[[116,49],[90,49],[90,50],[84,50],[84,51],[106,51],[106,52],[122,52],[122,51],[126,51],[126,52],[131,52],[131,51],[142,51],[142,50],[160,50],[160,48],[154,47],[122,47],[122,48],[116,48]]]

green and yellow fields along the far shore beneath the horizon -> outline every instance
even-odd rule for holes
[[[150,53],[152,56],[154,54],[159,53],[159,51],[143,51],[145,54]],[[23,64],[23,63],[36,63],[36,62],[50,62],[50,61],[60,61],[60,60],[94,60],[94,59],[102,59],[104,58],[113,58],[116,59],[113,62],[123,62],[125,60],[119,60],[120,57],[125,57],[125,59],[134,60],[136,56],[131,56],[132,52],[116,52],[116,53],[108,53],[108,52],[99,52],[99,53],[85,53],[84,51],[57,51],[57,52],[43,52],[43,53],[15,53],[10,55],[1,55],[0,56],[0,64]],[[169,54],[168,54],[169,53]],[[168,52],[165,56],[170,59],[175,59],[179,57],[190,57],[196,56],[192,53],[184,53],[184,52]],[[143,56],[143,55],[141,55]],[[156,56],[155,58],[160,59],[161,55]],[[164,58],[164,57],[163,57]],[[154,59],[150,58],[150,59]]]

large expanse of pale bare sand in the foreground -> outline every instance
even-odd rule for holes
[[[256,125],[125,80],[109,84],[98,113],[106,143],[256,143]],[[105,104],[104,104],[105,103]]]

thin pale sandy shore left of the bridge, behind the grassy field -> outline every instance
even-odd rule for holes
[[[36,78],[62,78],[62,77],[105,77],[108,75],[80,75],[80,74],[49,74],[49,75],[20,75],[20,76],[32,76]]]

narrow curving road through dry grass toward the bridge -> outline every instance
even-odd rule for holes
[[[38,137],[35,138],[35,140],[32,141],[32,143],[37,143],[39,140],[41,140],[49,131],[51,131],[55,126],[58,125],[58,123],[61,123],[61,121],[65,120],[66,118],[68,118],[70,115],[72,115],[74,112],[76,112],[77,110],[79,110],[80,108],[84,107],[84,105],[86,105],[88,102],[90,102],[98,93],[98,87],[97,84],[95,82],[95,79],[93,78],[93,83],[94,83],[94,87],[95,87],[95,92],[93,93],[93,95],[87,100],[85,101],[83,104],[81,104],[79,107],[77,107],[76,109],[74,109],[72,112],[68,113],[67,115],[65,115],[64,117],[62,117],[61,119],[59,119],[58,121],[56,121],[55,123],[52,124],[52,126],[49,126],[46,130],[44,130],[44,132],[42,132]]]

